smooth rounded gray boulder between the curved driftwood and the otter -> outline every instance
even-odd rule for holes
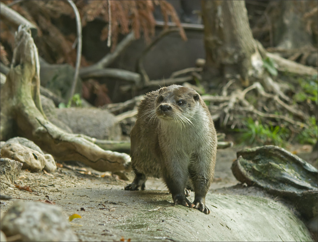
[[[68,124],[73,133],[97,139],[120,140],[121,127],[114,114],[98,108],[56,109],[58,119]]]

